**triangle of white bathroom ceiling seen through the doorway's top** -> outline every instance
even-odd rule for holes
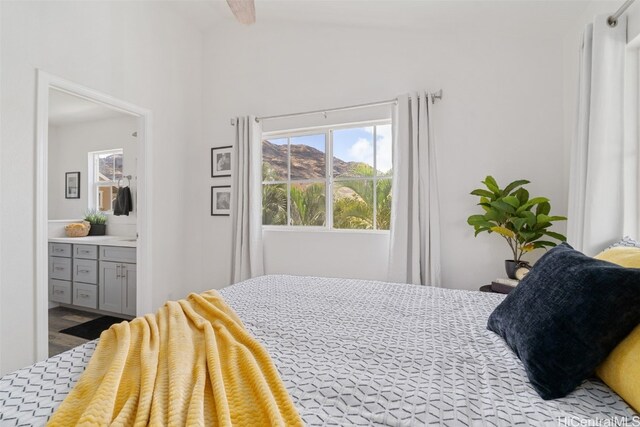
[[[49,124],[63,126],[93,120],[122,117],[125,114],[56,89],[49,91]]]

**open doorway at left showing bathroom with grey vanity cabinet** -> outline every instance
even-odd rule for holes
[[[38,73],[36,353],[150,311],[150,111]]]

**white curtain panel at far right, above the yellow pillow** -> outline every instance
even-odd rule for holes
[[[595,255],[623,233],[624,56],[627,21],[610,27],[607,15],[588,24],[580,52],[578,117],[571,153],[567,239]]]

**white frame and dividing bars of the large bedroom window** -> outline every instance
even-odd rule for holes
[[[391,129],[393,132],[393,121],[391,118],[388,119],[377,119],[377,120],[366,120],[359,122],[351,122],[351,123],[340,123],[336,125],[322,125],[315,126],[304,129],[293,129],[293,130],[278,130],[271,132],[263,132],[262,137],[260,138],[260,164],[262,165],[262,141],[273,140],[273,139],[287,139],[287,179],[285,180],[275,180],[275,181],[264,181],[260,180],[260,193],[262,194],[262,189],[264,185],[276,185],[276,184],[284,184],[286,185],[287,191],[287,224],[285,225],[270,225],[270,224],[262,224],[263,230],[267,231],[310,231],[310,232],[327,232],[327,233],[370,233],[370,234],[389,234],[390,230],[381,230],[378,228],[373,229],[361,229],[361,228],[334,228],[333,226],[333,188],[335,182],[341,181],[371,181],[373,184],[373,224],[374,227],[377,227],[377,210],[378,210],[378,192],[377,192],[377,183],[380,180],[390,179],[393,182],[393,175],[391,176],[383,176],[377,174],[377,126],[391,125]],[[373,127],[373,168],[375,171],[375,175],[371,177],[334,177],[333,176],[333,132],[337,130],[345,130],[345,129],[353,129],[353,128],[364,128],[364,127]],[[311,136],[311,135],[325,135],[325,177],[324,178],[311,178],[311,179],[302,179],[302,180],[292,180],[291,179],[291,138],[296,138],[300,136]],[[393,158],[393,147],[391,156]],[[262,172],[261,172],[262,174]],[[325,225],[293,225],[291,224],[291,184],[317,184],[323,183],[325,185]],[[260,199],[260,205],[262,206],[262,197]],[[261,207],[262,209],[262,207]],[[261,212],[262,214],[262,212]]]

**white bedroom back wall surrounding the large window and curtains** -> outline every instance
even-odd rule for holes
[[[540,29],[449,26],[403,31],[319,24],[220,25],[205,40],[203,144],[190,153],[191,247],[202,289],[229,282],[231,222],[202,198],[208,149],[228,145],[236,115],[270,115],[444,90],[436,104],[444,286],[477,289],[504,275],[509,256],[495,236],[474,239],[469,192],[485,175],[533,181],[532,193],[566,213],[562,43]],[[197,230],[197,233],[195,232]],[[564,231],[562,227],[559,231]],[[355,233],[265,233],[268,273],[385,279],[388,238]],[[321,266],[319,264],[321,263]]]

